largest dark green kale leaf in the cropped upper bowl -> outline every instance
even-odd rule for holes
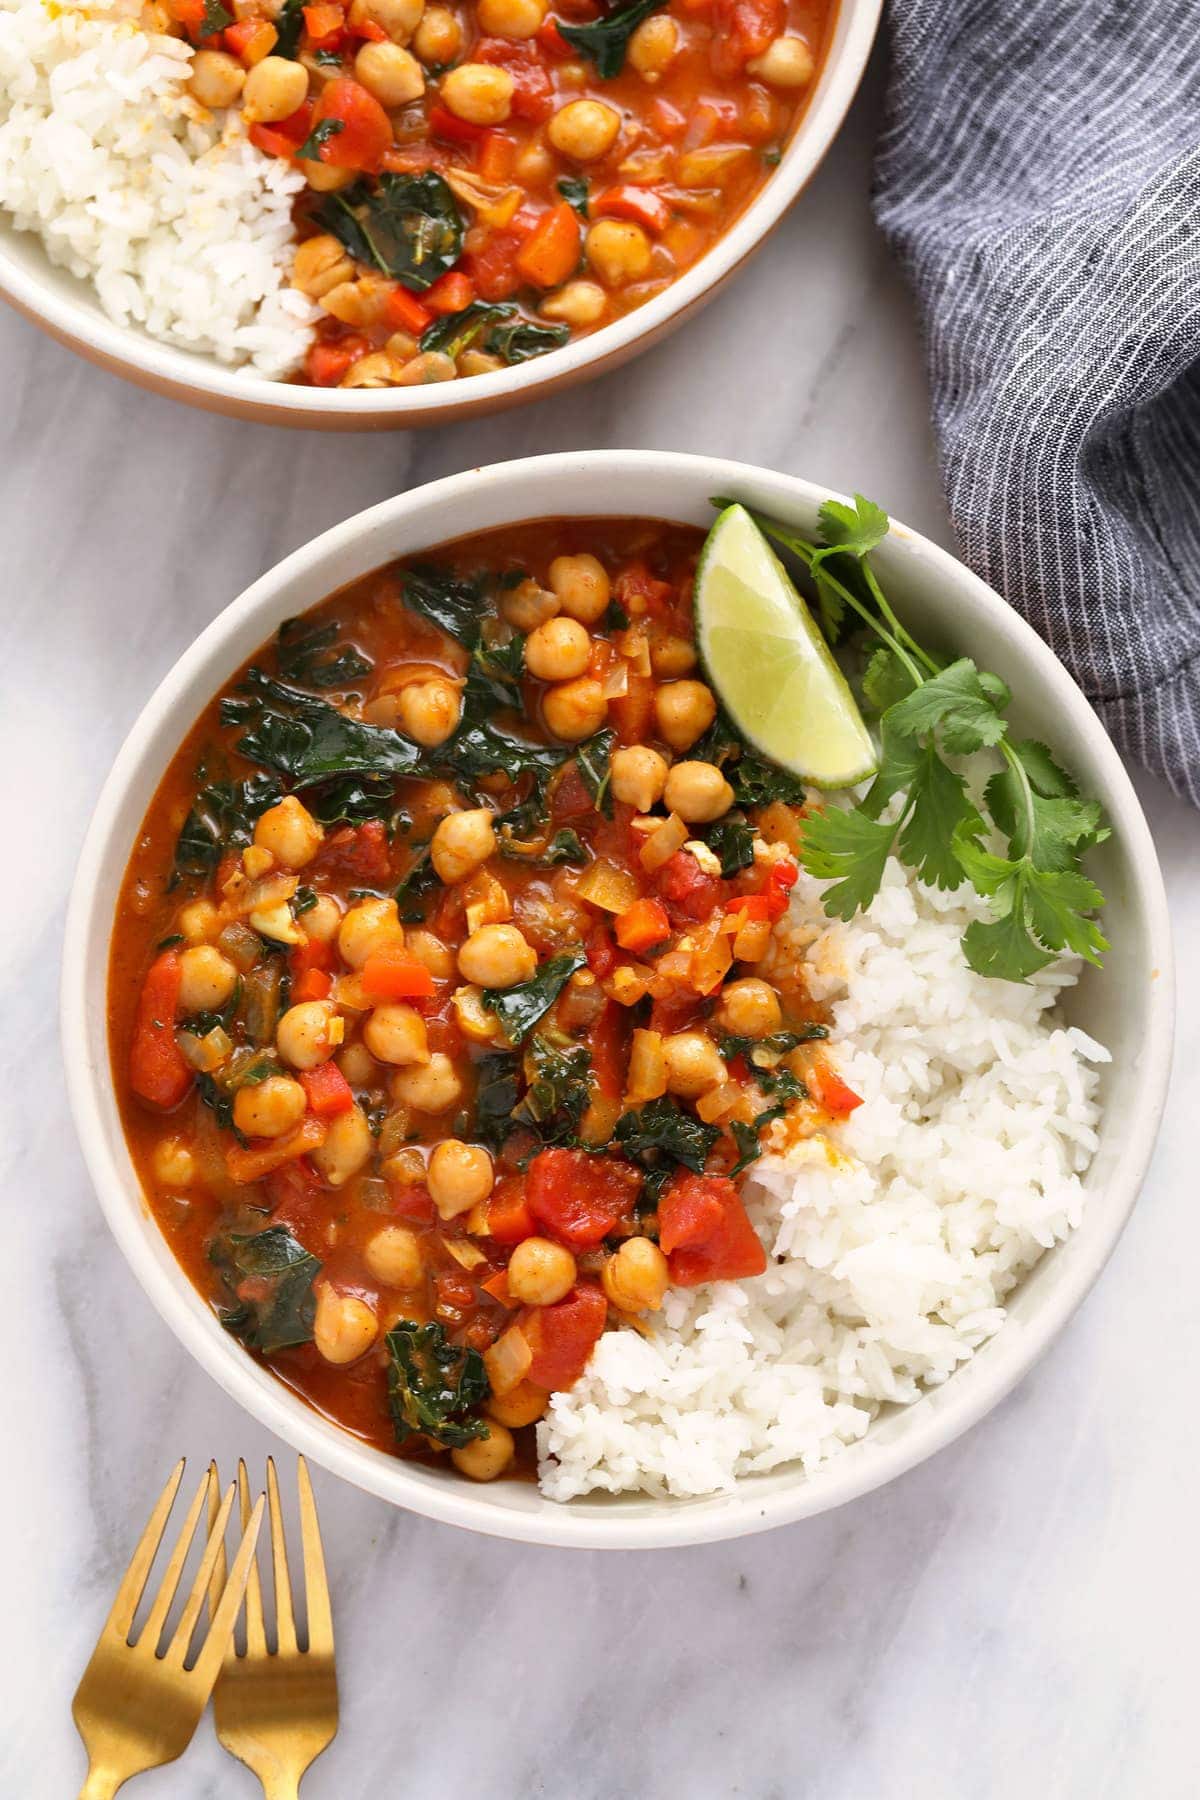
[[[313,218],[356,261],[372,263],[414,293],[453,268],[462,252],[462,214],[434,169],[363,178],[322,194]]]

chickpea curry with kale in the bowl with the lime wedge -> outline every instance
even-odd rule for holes
[[[804,790],[698,670],[700,542],[522,526],[288,621],[121,896],[113,1069],[175,1255],[327,1417],[475,1480],[606,1328],[761,1274],[745,1170],[858,1103],[777,931]]]

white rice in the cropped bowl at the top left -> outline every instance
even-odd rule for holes
[[[317,317],[284,286],[304,176],[191,99],[191,47],[140,16],[0,0],[0,207],[117,324],[284,376]]]

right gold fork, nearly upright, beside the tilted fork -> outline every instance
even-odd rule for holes
[[[279,1510],[275,1463],[266,1458],[266,1503],[272,1526],[275,1586],[275,1651],[266,1647],[263,1586],[257,1557],[246,1582],[246,1647],[237,1652],[228,1640],[221,1679],[212,1696],[216,1735],[230,1755],[254,1769],[266,1800],[297,1800],[300,1777],[317,1760],[338,1728],[338,1678],[333,1663],[333,1616],[326,1559],[320,1548],[317,1501],[304,1458],[297,1458],[300,1490],[300,1552],[304,1561],[304,1606],[308,1647],[300,1649],[291,1609],[288,1546]],[[245,1462],[237,1463],[241,1521],[250,1512]],[[212,1503],[209,1503],[212,1505]],[[219,1575],[214,1593],[219,1591]],[[225,1600],[221,1598],[221,1606]]]

